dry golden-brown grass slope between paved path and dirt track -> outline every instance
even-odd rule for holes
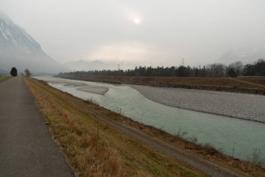
[[[206,176],[104,122],[97,138],[97,120],[87,110],[120,115],[38,80],[24,80],[77,176]]]

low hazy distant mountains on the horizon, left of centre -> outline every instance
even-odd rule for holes
[[[95,60],[93,62],[86,62],[82,59],[78,61],[70,61],[63,64],[66,68],[72,71],[91,71],[91,70],[103,70],[103,69],[112,69],[112,66],[105,64],[100,60]]]

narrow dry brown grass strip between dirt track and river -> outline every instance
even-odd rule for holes
[[[265,169],[259,165],[225,155],[220,152],[220,150],[213,148],[210,144],[199,145],[197,144],[197,139],[195,137],[189,139],[189,141],[183,139],[185,137],[185,132],[179,132],[177,135],[168,134],[167,132],[156,129],[152,126],[146,126],[142,123],[130,120],[129,118],[124,118],[122,115],[113,113],[112,111],[109,111],[109,117],[119,122],[123,122],[126,125],[130,125],[130,127],[135,127],[135,129],[139,129],[146,134],[161,139],[162,141],[172,143],[189,153],[199,155],[205,160],[222,164],[223,166],[230,167],[235,171],[241,171],[250,176],[265,176]]]

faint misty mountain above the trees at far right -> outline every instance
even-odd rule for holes
[[[251,64],[260,58],[265,59],[265,48],[241,48],[225,52],[220,59],[218,59],[218,62],[222,64],[231,64],[232,62],[241,61],[244,64]]]

